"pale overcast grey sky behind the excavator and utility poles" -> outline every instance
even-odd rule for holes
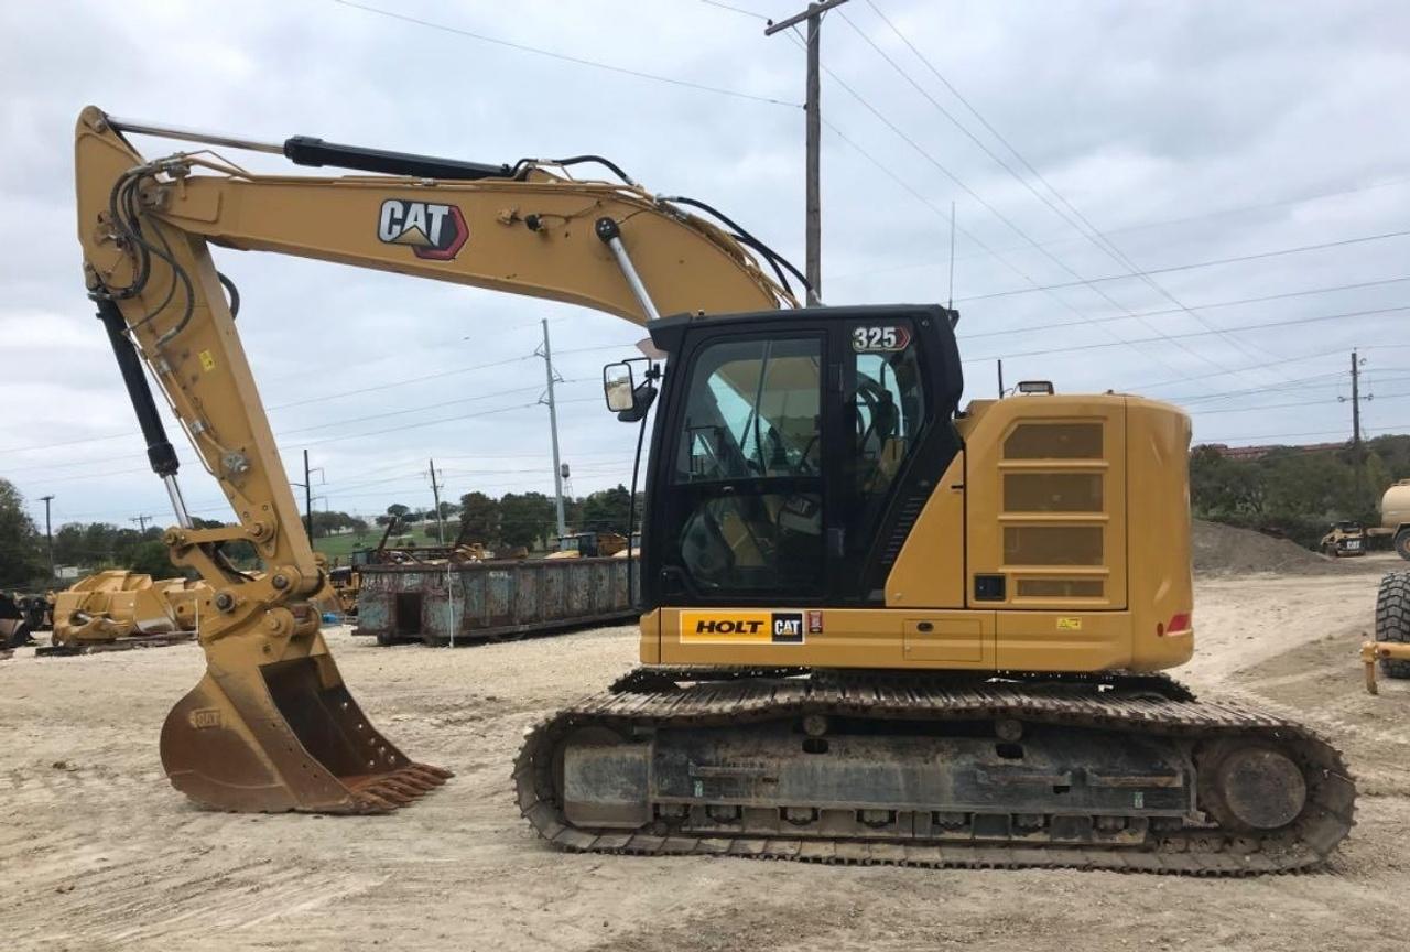
[[[0,475],[41,520],[38,498],[54,494],[55,525],[171,522],[83,293],[72,128],[85,104],[486,162],[599,152],[801,267],[804,55],[763,37],[763,17],[799,3],[367,6],[384,13],[336,0],[0,6]],[[1340,398],[1361,347],[1375,395],[1363,426],[1410,432],[1407,37],[1410,6],[1394,1],[852,0],[823,30],[825,300],[943,302],[953,202],[969,396],[994,395],[1003,357],[1010,382],[1177,402],[1198,441],[1334,440],[1349,433]],[[134,141],[147,155],[180,148]],[[430,505],[429,457],[451,498],[551,492],[540,319],[565,379],[574,494],[630,480],[634,432],[605,412],[596,381],[642,336],[632,324],[214,254],[241,288],[290,475],[303,448],[323,470],[317,508]],[[1210,264],[1230,258],[1242,261]],[[227,518],[197,465],[183,488],[195,512]]]

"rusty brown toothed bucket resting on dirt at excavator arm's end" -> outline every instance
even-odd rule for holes
[[[223,659],[166,715],[162,766],[172,786],[237,812],[388,812],[434,790],[448,770],[412,763],[348,692],[321,635],[306,657]],[[223,663],[237,661],[237,663]]]

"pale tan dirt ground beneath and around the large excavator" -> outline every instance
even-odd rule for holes
[[[1410,683],[1372,698],[1355,649],[1393,557],[1197,585],[1206,695],[1296,711],[1341,746],[1358,825],[1317,873],[1198,880],[560,853],[513,805],[522,733],[634,660],[632,628],[471,649],[330,632],[412,756],[457,771],[391,817],[197,810],[157,732],[202,671],[190,645],[0,663],[4,949],[1404,949]]]

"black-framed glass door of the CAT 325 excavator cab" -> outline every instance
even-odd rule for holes
[[[666,408],[654,463],[653,535],[660,597],[673,605],[816,605],[829,587],[823,460],[828,333],[692,336],[668,374],[687,374]]]

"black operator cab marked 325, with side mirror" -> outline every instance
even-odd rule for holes
[[[660,406],[647,463],[646,608],[866,605],[960,450],[963,378],[939,306],[814,307],[649,324],[670,355],[608,406]]]

